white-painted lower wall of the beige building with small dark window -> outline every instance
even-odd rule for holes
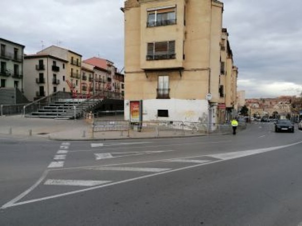
[[[138,101],[138,100],[137,100]],[[130,118],[130,101],[124,101],[125,120]],[[157,117],[157,110],[168,110],[169,117]],[[143,101],[143,120],[168,120],[208,123],[208,102],[188,99],[147,99]]]

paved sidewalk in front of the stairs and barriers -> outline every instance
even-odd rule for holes
[[[24,118],[21,115],[0,117],[0,137],[50,140],[117,140],[193,136],[206,136],[206,134],[187,131],[184,134],[175,131],[160,131],[158,134],[137,131],[95,132],[92,134],[92,125],[85,119]]]

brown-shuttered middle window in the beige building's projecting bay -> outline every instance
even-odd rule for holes
[[[175,58],[175,41],[147,43],[146,60],[168,60]]]

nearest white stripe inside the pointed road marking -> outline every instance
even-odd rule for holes
[[[112,181],[83,181],[83,180],[53,180],[49,179],[45,185],[64,185],[64,186],[86,186],[92,187],[101,184],[111,183]]]

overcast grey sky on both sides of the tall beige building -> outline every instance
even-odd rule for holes
[[[35,54],[59,45],[123,67],[124,0],[1,0],[0,37]],[[238,89],[246,97],[302,92],[302,1],[224,0]]]

